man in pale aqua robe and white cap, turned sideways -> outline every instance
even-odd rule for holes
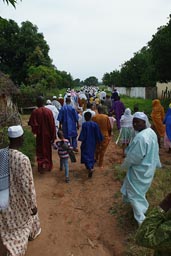
[[[140,225],[145,219],[149,203],[146,193],[153,181],[157,167],[161,167],[157,136],[147,128],[147,116],[143,112],[133,115],[133,128],[137,132],[126,148],[126,158],[122,164],[127,174],[121,188],[124,202],[131,204],[134,218]]]

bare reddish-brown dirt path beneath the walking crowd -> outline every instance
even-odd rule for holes
[[[29,242],[26,256],[123,256],[124,232],[109,213],[120,183],[114,178],[114,164],[120,163],[121,149],[111,141],[104,169],[95,167],[92,179],[84,165],[70,163],[70,183],[59,171],[59,158],[53,150],[54,168],[43,175],[33,170],[41,220],[41,235]],[[168,154],[161,149],[161,157]]]

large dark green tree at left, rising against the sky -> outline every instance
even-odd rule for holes
[[[22,22],[21,27],[13,20],[0,18],[0,69],[12,80],[26,83],[30,66],[52,66],[49,46],[37,26]]]

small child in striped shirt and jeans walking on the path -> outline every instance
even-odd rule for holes
[[[58,131],[58,138],[59,140],[56,141],[54,144],[54,148],[58,150],[58,155],[60,158],[60,171],[63,170],[63,167],[65,169],[65,182],[69,183],[69,164],[68,164],[68,158],[69,153],[67,149],[72,149],[69,140],[64,138],[63,131]]]

